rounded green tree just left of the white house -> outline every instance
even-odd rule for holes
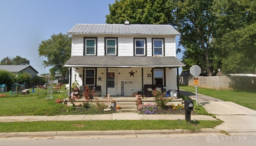
[[[39,57],[46,57],[46,60],[43,60],[43,65],[52,67],[49,70],[51,76],[59,72],[62,74],[62,78],[65,78],[65,74],[68,74],[68,68],[64,68],[63,65],[71,57],[71,43],[71,37],[59,33],[51,35],[51,38],[43,40],[39,44]]]

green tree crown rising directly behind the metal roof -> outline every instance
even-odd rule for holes
[[[108,24],[169,24],[174,17],[171,0],[116,0],[109,4]]]

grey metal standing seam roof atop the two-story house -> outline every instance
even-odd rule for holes
[[[171,25],[150,24],[76,24],[67,34],[151,34],[180,35]]]

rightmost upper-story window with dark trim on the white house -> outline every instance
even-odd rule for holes
[[[164,56],[164,38],[152,38],[152,56]]]

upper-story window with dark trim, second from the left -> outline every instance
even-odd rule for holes
[[[105,37],[105,55],[117,55],[117,38]]]

